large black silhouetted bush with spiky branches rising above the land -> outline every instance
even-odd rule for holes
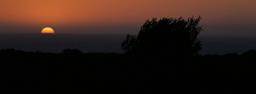
[[[202,49],[197,38],[202,29],[198,22],[201,17],[184,20],[182,17],[153,18],[147,20],[139,34],[127,34],[121,48],[125,54],[147,57],[191,56]]]

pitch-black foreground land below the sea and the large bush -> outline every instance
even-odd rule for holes
[[[241,94],[256,92],[256,51],[137,62],[115,53],[0,50],[1,94]]]

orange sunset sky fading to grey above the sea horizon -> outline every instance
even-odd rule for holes
[[[0,0],[0,33],[137,34],[147,19],[202,16],[201,35],[256,36],[256,0]]]

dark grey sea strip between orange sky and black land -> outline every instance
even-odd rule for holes
[[[121,42],[126,34],[41,34],[0,33],[0,49],[16,49],[26,52],[59,53],[63,49],[78,49],[83,53],[123,53]],[[228,54],[256,49],[253,36],[198,36],[203,49],[199,54]]]

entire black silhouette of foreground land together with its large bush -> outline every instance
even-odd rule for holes
[[[0,93],[256,93],[256,51],[197,55],[200,19],[147,20],[127,34],[125,54],[2,49]]]

